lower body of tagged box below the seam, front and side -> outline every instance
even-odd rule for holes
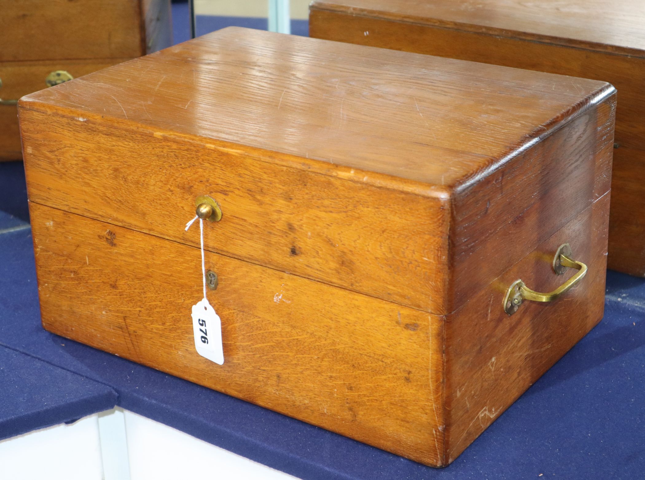
[[[448,315],[445,341],[443,317],[209,254],[207,268],[220,280],[209,298],[223,319],[223,367],[192,345],[188,312],[201,286],[188,272],[199,273],[199,250],[30,203],[43,325],[426,465],[448,465],[602,317],[608,202],[607,194]],[[564,242],[590,267],[584,283],[557,303],[526,303],[508,317],[502,297],[516,277],[542,290],[566,279],[550,270]]]

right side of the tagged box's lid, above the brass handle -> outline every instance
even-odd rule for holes
[[[611,186],[615,95],[453,199],[458,308]]]

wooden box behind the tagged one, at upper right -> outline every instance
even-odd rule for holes
[[[644,1],[313,0],[309,28],[317,38],[612,83],[620,100],[608,266],[645,276]]]

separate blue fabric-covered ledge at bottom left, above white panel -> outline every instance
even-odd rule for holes
[[[0,440],[114,407],[109,386],[0,346]]]

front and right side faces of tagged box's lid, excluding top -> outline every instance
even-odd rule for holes
[[[445,314],[609,190],[614,106],[588,110],[456,194],[452,221],[448,201],[276,170],[244,158],[263,158],[248,147],[195,148],[31,110],[22,118],[32,201],[186,243],[195,197],[212,193],[224,217],[208,250]],[[176,159],[181,168],[164,168]]]

